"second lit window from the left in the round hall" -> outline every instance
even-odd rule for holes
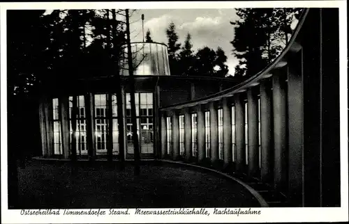
[[[76,97],[76,153],[78,155],[87,154],[87,139],[86,139],[86,116],[84,108],[84,96]],[[73,112],[73,97],[69,97],[69,127],[70,127],[70,149],[71,138],[73,136],[72,113]]]

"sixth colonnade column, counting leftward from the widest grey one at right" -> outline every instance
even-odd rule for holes
[[[228,168],[232,163],[232,106],[227,98],[223,98],[223,161]]]

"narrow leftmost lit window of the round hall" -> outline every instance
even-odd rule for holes
[[[53,112],[53,146],[54,154],[63,154],[61,143],[61,122],[59,120],[59,101],[58,98],[52,99]]]

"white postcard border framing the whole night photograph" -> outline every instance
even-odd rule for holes
[[[7,90],[6,90],[6,10],[57,8],[340,8],[340,120],[341,120],[341,207],[340,208],[262,208],[258,216],[21,216],[20,210],[8,210],[7,189]],[[1,223],[259,223],[348,221],[348,70],[346,1],[235,1],[235,2],[58,2],[0,3],[1,28]],[[105,209],[107,214],[108,209]],[[133,214],[134,209],[129,210]]]

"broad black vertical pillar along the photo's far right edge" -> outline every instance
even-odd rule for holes
[[[339,10],[337,8],[318,10],[320,10],[321,33],[320,35],[311,33],[318,38],[321,37],[322,42],[320,45],[322,71],[320,79],[322,98],[320,106],[320,206],[332,207],[341,205]]]

